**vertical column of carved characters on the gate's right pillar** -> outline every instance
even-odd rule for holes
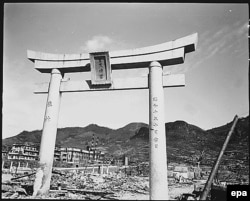
[[[152,116],[152,126],[153,126],[153,132],[154,132],[154,138],[153,138],[153,141],[154,141],[154,147],[155,148],[158,148],[158,124],[159,124],[159,121],[158,121],[158,98],[157,97],[153,97],[153,116]]]

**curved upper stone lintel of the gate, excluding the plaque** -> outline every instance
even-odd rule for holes
[[[158,61],[163,66],[184,62],[186,53],[195,51],[198,34],[192,34],[170,42],[137,48],[109,52],[113,70],[129,68],[145,68],[151,61]],[[42,73],[50,73],[58,68],[64,73],[84,72],[90,70],[89,54],[50,54],[28,50],[27,57],[35,63],[35,69]]]

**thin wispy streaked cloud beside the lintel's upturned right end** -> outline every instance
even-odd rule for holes
[[[216,55],[235,53],[241,56],[247,49],[244,49],[247,41],[248,22],[236,22],[232,25],[223,26],[216,31],[206,31],[199,35],[199,42],[195,54],[191,54],[190,61],[185,65],[184,71],[196,68],[208,59]],[[200,59],[197,59],[200,58]]]

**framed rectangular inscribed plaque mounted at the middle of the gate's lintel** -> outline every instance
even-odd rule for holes
[[[108,52],[90,53],[91,84],[111,84],[111,65]]]

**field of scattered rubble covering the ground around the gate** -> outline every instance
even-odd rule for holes
[[[228,174],[220,174],[220,179],[230,182]],[[149,200],[148,175],[148,168],[118,169],[108,174],[77,169],[53,170],[49,193],[33,197],[35,172],[27,175],[2,173],[2,199]],[[237,178],[231,172],[230,175],[234,176],[234,180]],[[169,199],[179,200],[182,194],[192,194],[197,187],[204,187],[207,177],[179,180],[170,174]]]

